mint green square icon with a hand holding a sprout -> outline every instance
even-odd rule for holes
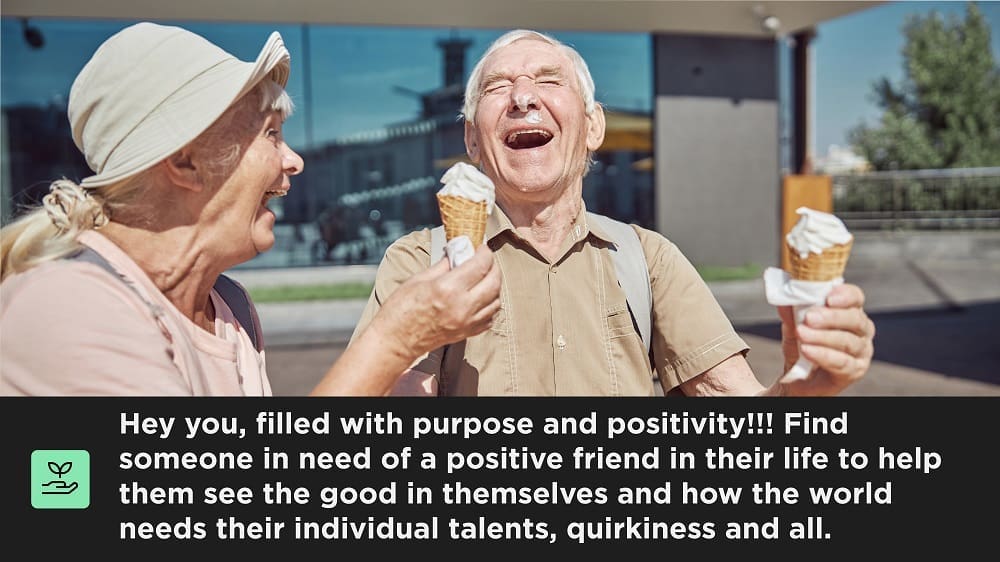
[[[81,449],[31,452],[31,506],[84,509],[90,506],[90,453]]]

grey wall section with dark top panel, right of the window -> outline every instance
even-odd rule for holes
[[[775,265],[774,39],[655,34],[656,222],[695,265]]]

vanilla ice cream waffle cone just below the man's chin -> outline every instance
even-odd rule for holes
[[[486,217],[496,201],[493,181],[475,166],[457,162],[441,176],[444,184],[437,192],[438,209],[445,238],[469,237],[473,247],[483,243]]]

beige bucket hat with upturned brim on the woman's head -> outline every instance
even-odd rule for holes
[[[262,78],[284,87],[290,57],[271,33],[244,62],[180,27],[138,23],[105,41],[73,82],[73,141],[95,175],[85,188],[147,170],[205,131]]]

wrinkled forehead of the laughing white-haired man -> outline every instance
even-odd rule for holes
[[[573,62],[561,48],[539,39],[524,38],[500,47],[483,61],[480,87],[498,77],[559,73],[576,84]]]

